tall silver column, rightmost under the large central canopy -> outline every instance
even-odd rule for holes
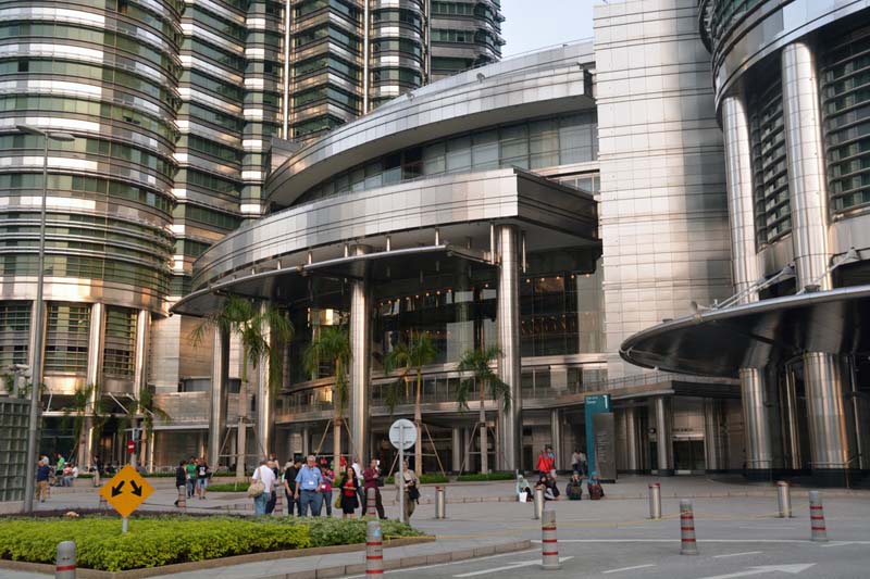
[[[522,398],[520,390],[520,273],[519,235],[513,225],[496,228],[501,264],[498,272],[498,311],[496,314],[498,348],[498,377],[510,386],[510,408],[504,413],[501,443],[504,470],[514,470],[520,464],[522,449]]]

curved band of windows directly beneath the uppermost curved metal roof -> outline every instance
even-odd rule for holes
[[[306,191],[299,203],[422,176],[498,167],[543,168],[598,156],[595,114],[566,115],[435,141],[385,155]]]

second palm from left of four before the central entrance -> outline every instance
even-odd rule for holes
[[[336,466],[341,456],[341,420],[347,403],[347,370],[350,366],[350,336],[345,326],[326,326],[311,341],[303,354],[304,370],[316,378],[321,361],[330,361],[335,369],[333,382],[333,454]],[[359,444],[364,442],[359,440]],[[351,444],[353,441],[351,441]],[[357,449],[362,456],[362,449]]]

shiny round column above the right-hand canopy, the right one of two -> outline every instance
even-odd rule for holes
[[[803,41],[782,50],[782,105],[797,288],[818,284],[819,289],[829,290],[828,180],[819,78],[813,51]]]

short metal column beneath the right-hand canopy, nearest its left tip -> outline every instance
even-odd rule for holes
[[[758,368],[741,368],[741,398],[746,438],[746,469],[766,477],[773,466],[765,376]]]

